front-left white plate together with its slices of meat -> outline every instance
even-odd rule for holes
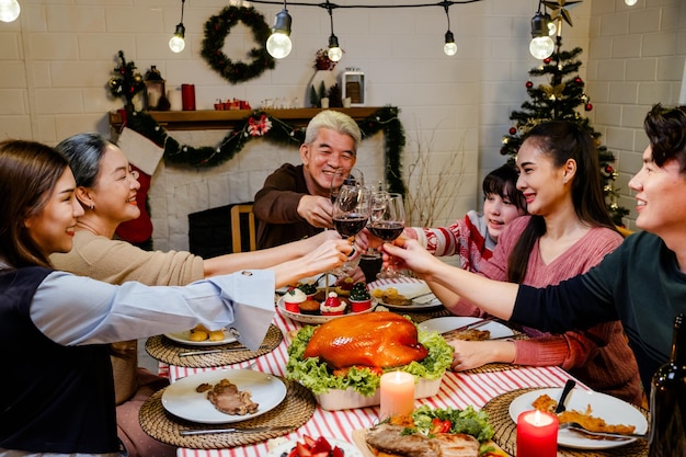
[[[256,418],[286,398],[276,376],[252,369],[218,369],[179,379],[162,393],[171,414],[203,424],[224,424]]]

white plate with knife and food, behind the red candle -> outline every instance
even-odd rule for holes
[[[553,400],[558,400],[561,393],[561,388],[539,389],[523,393],[510,403],[510,416],[516,423],[521,413],[534,409],[531,403],[538,397],[548,395]],[[648,431],[648,421],[645,421],[643,414],[631,404],[618,398],[576,388],[572,390],[565,402],[568,411],[585,412],[588,404],[591,405],[591,414],[603,419],[607,424],[634,425],[636,433],[645,433]],[[636,438],[624,441],[588,439],[569,430],[558,432],[558,444],[578,449],[607,449],[624,446],[634,441]]]

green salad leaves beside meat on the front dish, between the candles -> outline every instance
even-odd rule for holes
[[[421,433],[431,435],[434,430],[434,420],[449,421],[451,426],[447,433],[466,433],[484,442],[493,437],[493,427],[489,424],[489,415],[485,411],[476,411],[469,405],[464,410],[455,408],[432,409],[423,404],[414,410],[412,420],[414,427],[405,427],[403,434]]]

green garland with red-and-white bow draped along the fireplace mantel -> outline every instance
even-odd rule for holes
[[[363,139],[384,132],[384,152],[386,155],[386,183],[389,192],[405,194],[402,180],[401,155],[405,145],[405,135],[398,118],[400,110],[393,106],[384,106],[367,118],[357,123]],[[127,118],[126,126],[152,142],[164,148],[164,160],[170,163],[187,164],[190,167],[216,167],[232,159],[240,152],[248,141],[254,138],[264,138],[268,141],[300,147],[305,140],[305,128],[294,127],[285,122],[270,116],[263,111],[254,111],[242,124],[219,142],[219,146],[202,146],[194,148],[182,145],[171,137],[152,116],[144,111],[136,111]]]

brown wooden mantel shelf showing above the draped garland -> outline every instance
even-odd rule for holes
[[[380,107],[332,107],[331,110],[345,113],[359,122],[369,117]],[[264,110],[270,116],[287,121],[297,127],[305,127],[320,111],[321,108],[318,107]],[[168,130],[227,130],[232,129],[236,124],[242,123],[245,117],[254,113],[254,110],[148,111],[147,113]],[[110,125],[116,129],[121,128],[122,115],[118,111],[110,112]]]

